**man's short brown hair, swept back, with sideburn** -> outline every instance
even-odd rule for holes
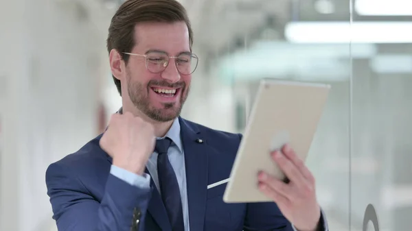
[[[111,19],[108,27],[107,50],[116,49],[127,63],[135,46],[135,25],[146,22],[174,23],[183,21],[189,30],[190,47],[193,45],[193,31],[183,5],[176,0],[126,0]],[[113,75],[112,75],[113,76]],[[122,84],[113,76],[117,91],[122,95]]]

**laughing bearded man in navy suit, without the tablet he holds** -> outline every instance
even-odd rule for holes
[[[104,134],[47,169],[58,230],[327,230],[314,178],[287,145],[271,155],[288,184],[256,175],[273,202],[225,204],[225,185],[207,189],[229,177],[242,136],[179,117],[198,62],[192,42],[176,0],[117,10],[107,47],[123,107]]]

